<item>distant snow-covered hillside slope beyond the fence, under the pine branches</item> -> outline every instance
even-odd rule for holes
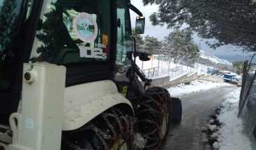
[[[229,63],[229,61],[213,56],[210,53],[207,53],[206,51],[202,51],[202,50],[200,50],[200,56],[199,56],[199,59],[197,60],[197,63],[201,63],[204,65],[216,67],[218,69],[225,69],[229,71],[232,71],[234,69],[232,67],[232,63]]]

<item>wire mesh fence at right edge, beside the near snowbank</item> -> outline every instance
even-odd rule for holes
[[[256,71],[250,72],[248,66],[248,62],[245,62],[238,117],[243,119],[244,132],[252,140],[253,149],[256,149]]]

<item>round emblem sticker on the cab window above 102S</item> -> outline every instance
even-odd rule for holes
[[[84,42],[93,42],[97,38],[98,26],[89,13],[79,13],[73,19],[73,28],[77,37]]]

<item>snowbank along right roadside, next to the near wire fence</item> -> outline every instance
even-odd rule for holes
[[[241,88],[229,93],[223,103],[223,108],[218,115],[218,120],[223,124],[213,135],[218,137],[218,142],[213,143],[214,149],[219,150],[251,150],[250,140],[243,134],[242,120],[238,114],[239,94]],[[213,126],[211,126],[213,129]],[[213,130],[216,130],[214,128]]]

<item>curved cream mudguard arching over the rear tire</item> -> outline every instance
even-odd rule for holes
[[[113,81],[97,81],[65,89],[63,131],[82,127],[91,119],[119,103],[133,106],[120,94]]]

